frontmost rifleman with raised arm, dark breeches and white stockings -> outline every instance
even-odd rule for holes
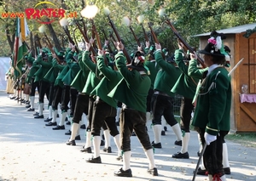
[[[131,133],[134,132],[140,140],[145,150],[145,155],[149,161],[148,173],[157,176],[157,168],[154,164],[154,153],[152,145],[146,131],[146,109],[147,95],[151,81],[143,66],[144,57],[140,52],[135,54],[131,64],[125,64],[125,56],[122,53],[124,45],[122,42],[116,43],[119,53],[115,55],[116,66],[123,78],[113,90],[108,93],[113,99],[117,99],[124,105],[121,110],[120,119],[120,140],[123,155],[123,167],[115,172],[115,176],[132,177],[131,158]]]

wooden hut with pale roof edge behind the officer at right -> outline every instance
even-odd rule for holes
[[[244,58],[231,74],[232,107],[231,132],[256,132],[256,33],[246,38],[243,35],[253,29],[256,23],[218,30],[226,35],[224,45],[229,46],[232,58],[230,70]],[[196,35],[200,37],[200,49],[205,48],[211,32]],[[247,88],[247,90],[246,90]]]

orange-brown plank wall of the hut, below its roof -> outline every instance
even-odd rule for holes
[[[256,68],[256,66],[253,66],[252,68],[252,66],[247,65],[249,63],[248,59],[250,51],[249,39],[242,37],[242,35],[243,33],[227,34],[227,38],[224,40],[224,45],[229,46],[231,50],[230,54],[232,55],[232,58],[230,59],[230,68],[228,69],[229,71],[241,58],[244,58],[241,65],[239,65],[238,68],[236,68],[236,71],[231,75],[232,105],[230,110],[230,132],[232,133],[256,132],[256,103],[240,102],[241,85],[250,85],[249,69],[251,69],[252,72],[252,69]],[[250,38],[253,37],[256,38],[256,34]],[[208,38],[209,37],[201,37],[199,49],[206,47]],[[256,62],[256,59],[254,59],[254,62]]]

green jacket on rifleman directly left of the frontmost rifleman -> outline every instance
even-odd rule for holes
[[[114,71],[111,67],[108,67],[105,64],[103,56],[98,56],[97,66],[104,77],[102,78],[101,82],[99,82],[99,84],[96,86],[96,88],[94,88],[91,94],[99,96],[108,105],[116,108],[117,100],[110,98],[108,96],[108,93],[118,84],[118,82],[122,79],[122,76],[119,71]]]

